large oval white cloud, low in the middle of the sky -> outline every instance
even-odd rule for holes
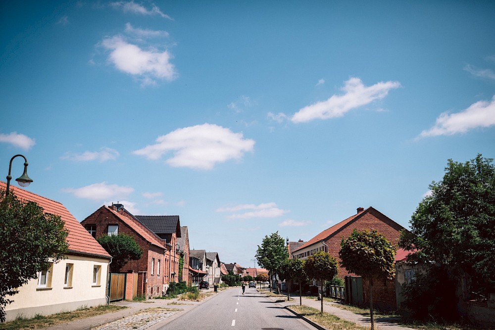
[[[155,144],[133,153],[148,159],[159,159],[164,153],[174,151],[174,156],[166,161],[170,166],[209,170],[216,163],[240,160],[253,147],[254,140],[244,139],[242,133],[234,133],[214,124],[203,124],[162,135]]]

